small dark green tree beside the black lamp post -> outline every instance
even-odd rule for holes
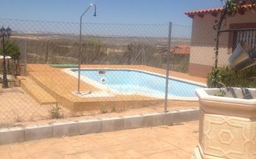
[[[15,45],[14,43],[11,43],[10,41],[6,41],[5,43],[5,51],[6,56],[10,56],[15,64],[15,74],[17,75],[17,59],[19,59],[19,56],[21,55],[21,49],[19,46]],[[0,47],[0,54],[2,55],[2,47]]]

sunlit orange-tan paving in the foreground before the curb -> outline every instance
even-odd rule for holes
[[[198,121],[0,146],[0,158],[190,158]]]

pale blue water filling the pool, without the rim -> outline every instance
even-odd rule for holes
[[[73,69],[78,74],[77,69]],[[98,69],[81,70],[81,75],[88,77],[100,84],[101,79],[106,79],[107,87],[110,87],[122,93],[147,93],[150,95],[165,95],[165,77],[150,74],[142,71],[129,69],[109,69],[106,74],[98,74]],[[196,97],[194,90],[203,86],[169,79],[168,96],[169,97]]]

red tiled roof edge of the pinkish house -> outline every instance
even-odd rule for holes
[[[256,5],[254,5],[254,8],[255,7],[256,7]],[[241,7],[241,9],[242,9],[242,11],[245,11],[246,9],[252,9],[252,4],[244,5]],[[197,11],[189,11],[189,12],[185,12],[185,14],[188,15],[189,17],[193,17],[191,15],[216,13],[216,12],[221,12],[222,10],[223,10],[223,8],[220,7],[220,8],[197,10]]]

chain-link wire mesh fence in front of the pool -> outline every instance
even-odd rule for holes
[[[2,126],[162,112],[168,53],[168,110],[198,107],[194,90],[206,86],[214,63],[214,39],[208,38],[214,38],[214,30],[171,25],[168,48],[168,23],[85,23],[78,94],[80,24],[14,19],[0,19],[0,24],[12,29],[1,51],[9,86],[0,90]],[[227,56],[220,56],[219,63],[227,63]]]

